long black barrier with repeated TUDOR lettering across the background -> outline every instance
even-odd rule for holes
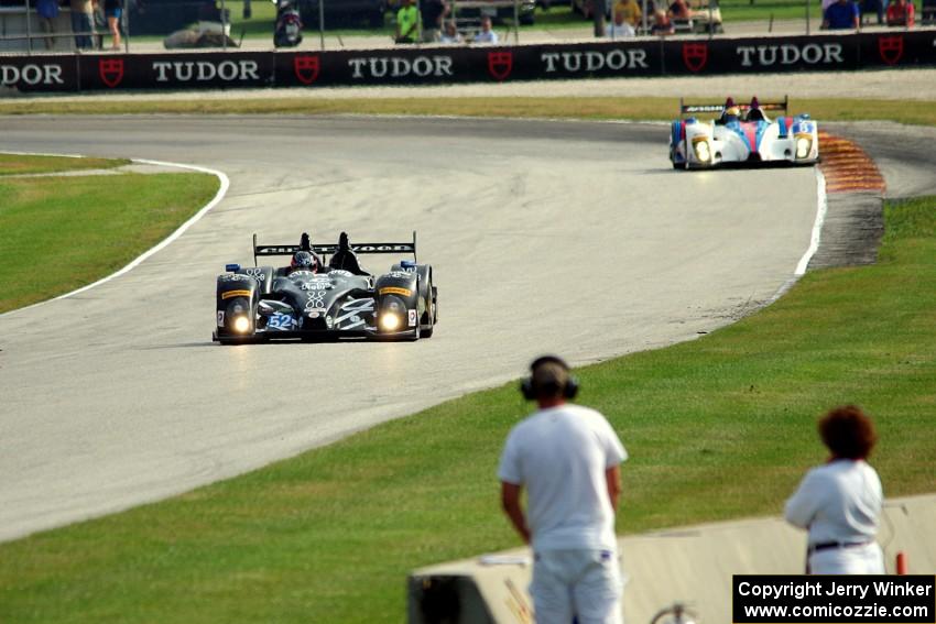
[[[0,56],[21,91],[445,85],[936,65],[936,31],[513,47]]]

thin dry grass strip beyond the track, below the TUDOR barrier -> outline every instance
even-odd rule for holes
[[[298,92],[298,91],[297,91]],[[737,94],[747,96],[750,94]],[[757,94],[762,99],[772,94]],[[687,97],[692,94],[687,94]],[[782,97],[782,94],[781,96]],[[711,100],[711,97],[701,98]],[[809,112],[815,119],[889,120],[936,124],[930,101],[870,99],[797,99],[791,112]],[[132,101],[55,101],[0,103],[0,114],[132,114],[132,113],[241,113],[241,114],[444,114],[468,117],[551,119],[645,119],[668,121],[678,116],[675,98],[380,98],[319,99],[303,97]]]

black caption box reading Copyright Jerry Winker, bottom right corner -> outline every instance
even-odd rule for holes
[[[936,577],[821,574],[732,577],[734,624],[933,624]]]

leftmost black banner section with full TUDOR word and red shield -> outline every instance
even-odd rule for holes
[[[272,53],[87,54],[79,88],[187,89],[270,87]]]

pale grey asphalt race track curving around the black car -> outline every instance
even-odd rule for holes
[[[0,119],[0,150],[172,161],[231,179],[220,205],[130,273],[0,316],[0,539],[515,379],[542,352],[596,361],[762,305],[809,244],[814,171],[673,172],[666,136],[659,124],[545,121]],[[432,339],[211,343],[215,276],[251,261],[253,232],[347,230],[353,242],[413,229],[439,288]]]

